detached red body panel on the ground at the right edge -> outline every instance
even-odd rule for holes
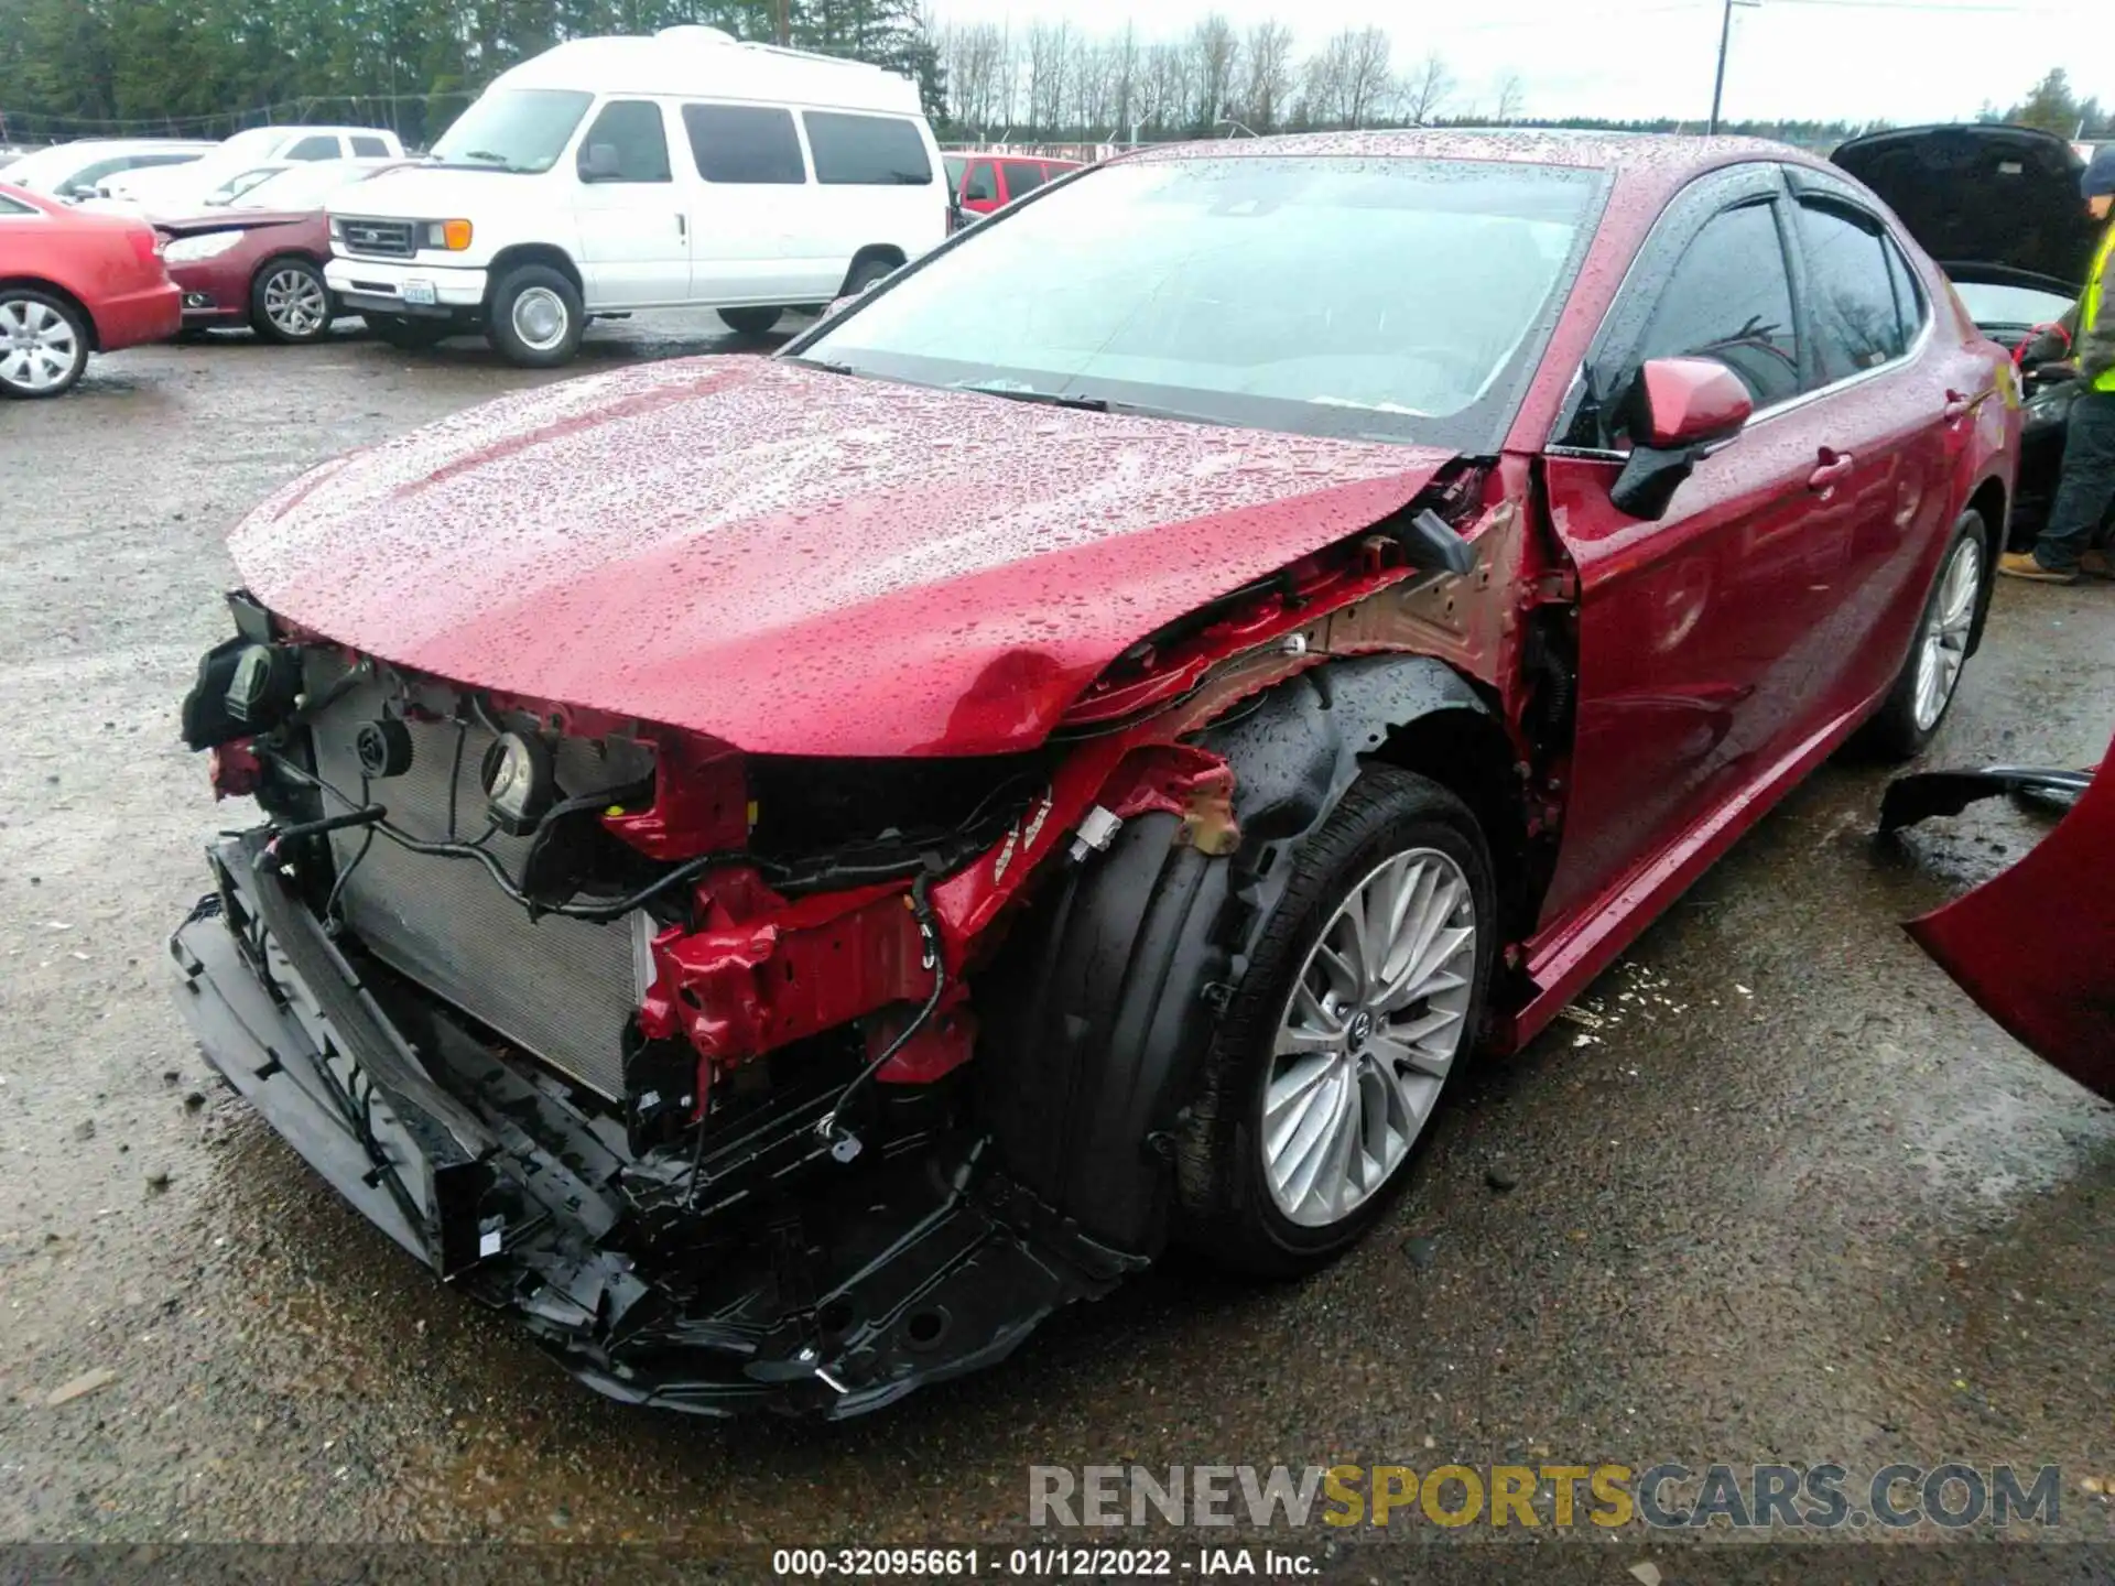
[[[2115,744],[2028,854],[1906,928],[1975,1004],[2090,1091],[2115,1098]]]

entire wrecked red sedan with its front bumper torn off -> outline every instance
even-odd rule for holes
[[[594,1387],[867,1410],[1385,1218],[1474,1049],[1937,732],[2018,423],[1787,148],[1110,161],[260,505],[184,1004]]]

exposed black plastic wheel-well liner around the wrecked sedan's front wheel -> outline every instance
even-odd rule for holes
[[[1430,656],[1301,672],[1195,744],[1233,768],[1242,842],[1212,854],[1153,810],[1055,882],[986,988],[979,1110],[1007,1172],[1117,1250],[1155,1254],[1178,1199],[1176,1140],[1220,1009],[1296,848],[1394,727],[1487,713]],[[1055,880],[1055,878],[1053,878]]]

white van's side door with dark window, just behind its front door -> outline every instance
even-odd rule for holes
[[[802,256],[825,247],[819,192],[785,106],[685,104],[694,302],[808,302]],[[842,275],[838,279],[844,279]]]

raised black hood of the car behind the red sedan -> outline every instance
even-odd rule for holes
[[[1990,266],[2077,290],[2098,233],[2071,144],[2033,127],[1910,127],[1832,156],[1870,186],[1948,273]],[[1990,279],[1990,277],[1984,277]]]

